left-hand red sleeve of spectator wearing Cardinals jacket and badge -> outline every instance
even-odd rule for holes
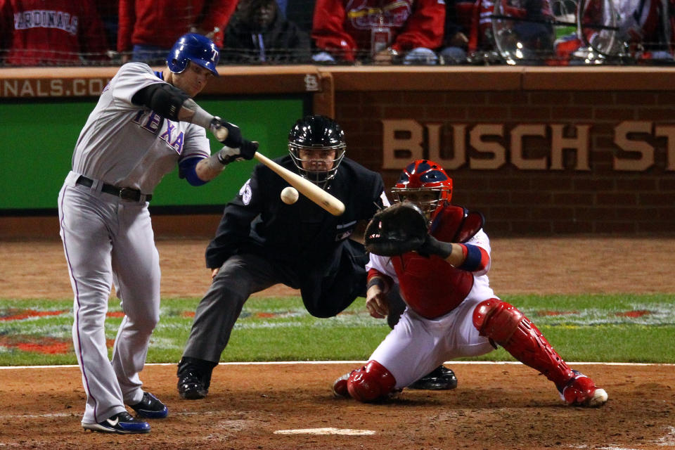
[[[343,0],[316,0],[311,37],[319,50],[338,51],[340,59],[353,61],[356,42],[345,31],[345,14]]]

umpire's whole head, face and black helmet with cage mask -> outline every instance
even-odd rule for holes
[[[345,131],[323,115],[303,117],[288,133],[288,152],[298,172],[321,188],[335,178],[346,149]]]

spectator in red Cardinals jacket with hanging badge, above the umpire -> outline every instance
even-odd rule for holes
[[[316,0],[313,59],[433,65],[444,20],[443,0]]]

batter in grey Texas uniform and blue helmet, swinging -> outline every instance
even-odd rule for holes
[[[144,63],[123,65],[77,140],[58,212],[75,293],[72,338],[86,392],[86,430],[144,433],[150,425],[141,418],[167,416],[167,407],[143,392],[139,379],[160,319],[160,264],[148,202],[176,164],[180,176],[198,186],[231,160],[252,158],[257,148],[236,125],[191,98],[217,75],[218,56],[212,41],[186,34],[162,72]],[[211,155],[205,129],[222,128],[225,147]],[[111,285],[124,311],[112,361],[105,345]]]

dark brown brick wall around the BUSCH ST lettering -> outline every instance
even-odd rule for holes
[[[583,86],[583,81],[580,77],[577,85]],[[383,120],[441,124],[441,155],[453,151],[453,124],[467,124],[468,129],[475,124],[503,124],[504,136],[491,139],[506,148],[503,167],[480,170],[465,163],[449,171],[454,203],[482,211],[491,233],[675,231],[675,172],[667,169],[667,139],[653,133],[655,127],[675,122],[673,91],[338,91],[335,116],[347,133],[349,156],[382,172],[387,188],[399,170],[383,169]],[[614,143],[615,129],[624,121],[652,122],[651,134],[630,136],[655,148],[652,167],[628,171],[613,167],[615,155],[622,152]],[[591,125],[590,170],[574,169],[574,152],[563,152],[563,170],[518,169],[510,163],[508,138],[517,124]],[[550,135],[548,129],[547,136],[525,138],[525,155],[548,158]],[[468,143],[468,135],[465,138]],[[428,136],[422,146],[428,158]],[[470,146],[467,153],[476,154]],[[628,160],[636,156],[622,155]]]

